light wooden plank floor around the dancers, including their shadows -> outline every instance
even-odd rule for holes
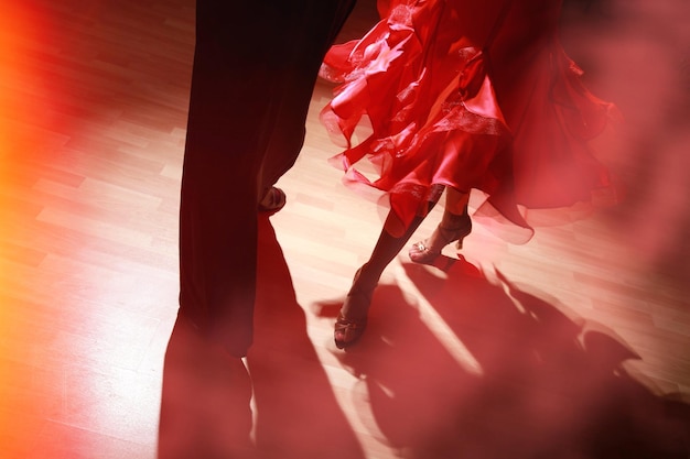
[[[168,457],[689,458],[688,7],[599,2],[582,23],[571,3],[564,43],[626,117],[599,145],[624,201],[536,215],[526,245],[477,226],[445,271],[402,251],[338,351],[385,209],[327,164],[320,83],[261,221],[251,387],[183,326],[170,340],[194,2],[6,0],[0,457],[154,458],[166,384]],[[374,18],[360,2],[339,40]]]

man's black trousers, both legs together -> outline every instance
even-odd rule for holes
[[[237,357],[252,338],[261,171],[280,176],[297,159],[319,65],[343,3],[197,0],[180,210],[180,308]]]

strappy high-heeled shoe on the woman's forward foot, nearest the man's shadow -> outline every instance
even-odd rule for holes
[[[369,310],[371,295],[374,294],[374,288],[376,288],[377,283],[367,285],[359,282],[360,273],[362,267],[355,274],[353,286],[347,293],[345,303],[343,304],[343,307],[337,315],[337,319],[335,320],[333,338],[335,340],[335,347],[338,349],[348,348],[359,341],[359,338],[364,335],[364,330],[367,328],[367,312]],[[349,312],[351,315],[353,312],[358,312],[360,314],[356,317],[354,315],[352,317],[347,317],[343,313],[344,310]]]

